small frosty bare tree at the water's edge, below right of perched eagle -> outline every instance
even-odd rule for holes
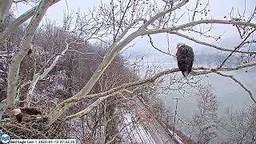
[[[191,121],[192,130],[198,143],[209,143],[217,138],[218,100],[210,86],[202,86],[198,90],[198,110]]]

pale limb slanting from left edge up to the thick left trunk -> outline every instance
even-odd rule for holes
[[[10,36],[10,34],[12,34],[12,32],[18,28],[18,26],[20,26],[23,22],[26,22],[26,20],[28,20],[30,17],[32,17],[32,15],[34,14],[34,11],[37,9],[36,7],[33,7],[32,9],[28,10],[25,14],[22,14],[21,16],[19,16],[18,18],[16,18],[14,20],[14,22],[12,22],[10,24],[10,26],[8,26],[6,28],[6,30],[0,35],[0,46],[2,45],[2,43],[5,41],[6,38],[8,38],[8,36]]]

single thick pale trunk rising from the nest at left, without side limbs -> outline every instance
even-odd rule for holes
[[[46,10],[50,6],[54,5],[54,3],[56,2],[59,2],[59,0],[42,0],[41,2],[39,2],[37,10],[34,12],[34,16],[30,20],[30,24],[26,27],[26,31],[20,43],[19,49],[12,58],[8,71],[8,86],[6,98],[7,105],[9,107],[14,107],[17,94],[19,67],[23,58],[25,58],[26,54],[30,50],[30,44],[34,36],[34,32],[38,28],[38,25],[41,22],[44,14],[46,13]]]

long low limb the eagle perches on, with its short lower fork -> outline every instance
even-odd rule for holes
[[[223,67],[221,69],[217,69],[217,68],[216,69],[209,69],[209,68],[205,68],[205,67],[198,67],[198,68],[193,69],[192,74],[193,75],[202,75],[202,74],[217,73],[218,71],[240,70],[242,68],[246,68],[246,67],[250,67],[250,66],[256,66],[256,62],[251,62],[251,63],[247,63],[245,65],[236,66],[236,67],[226,67],[226,68]],[[170,70],[164,70],[162,72],[154,74],[150,78],[146,78],[146,79],[135,81],[135,82],[125,83],[125,84],[122,84],[121,86],[117,86],[117,87],[115,87],[111,90],[107,90],[106,92],[102,92],[102,93],[98,93],[98,94],[83,95],[83,96],[78,97],[78,98],[69,98],[65,102],[62,102],[61,106],[66,106],[70,102],[75,104],[76,102],[81,102],[81,101],[84,101],[88,98],[98,98],[98,100],[93,102],[90,106],[86,107],[85,110],[82,110],[82,111],[78,112],[77,114],[73,114],[73,115],[70,115],[70,116],[66,117],[68,119],[78,118],[78,117],[80,117],[84,114],[88,114],[90,112],[90,110],[92,110],[95,106],[98,106],[98,104],[103,102],[106,98],[110,98],[110,97],[112,97],[112,96],[114,96],[118,93],[122,93],[123,91],[126,91],[126,89],[134,87],[134,86],[142,86],[142,85],[146,85],[146,84],[149,84],[149,83],[154,83],[154,81],[156,79],[162,77],[163,75],[173,74],[173,73],[176,73],[178,71],[179,71],[178,68],[174,68],[174,69],[170,69]],[[250,96],[251,96],[251,98],[254,98],[252,94]],[[253,101],[254,101],[254,99],[253,99]]]

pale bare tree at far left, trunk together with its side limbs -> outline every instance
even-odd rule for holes
[[[2,1],[2,5],[4,6],[1,10],[1,23],[6,18],[6,15],[8,14],[10,10],[10,6],[13,1]],[[30,50],[30,43],[34,36],[35,30],[38,28],[39,22],[41,22],[41,19],[43,15],[46,13],[46,10],[48,7],[52,6],[54,3],[58,1],[41,1],[38,3],[38,6],[36,10],[30,10],[26,14],[22,14],[19,18],[17,18],[14,22],[10,24],[10,29],[6,29],[1,34],[2,42],[4,39],[7,38],[7,36],[16,29],[22,22],[25,22],[28,18],[30,18],[33,14],[33,18],[30,20],[30,24],[26,27],[25,34],[23,35],[22,41],[20,42],[18,46],[18,50],[14,53],[14,56],[12,58],[12,61],[10,62],[9,66],[9,72],[8,72],[8,87],[7,87],[7,98],[6,100],[2,101],[2,112],[6,110],[7,107],[14,107],[15,105],[15,98],[17,98],[17,82],[18,82],[18,73],[19,73],[19,66],[25,58],[26,54]],[[2,117],[1,112],[1,117]]]

